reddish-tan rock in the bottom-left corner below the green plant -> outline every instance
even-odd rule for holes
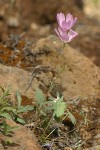
[[[6,144],[4,145],[7,150],[41,150],[41,147],[39,146],[37,139],[31,130],[27,129],[24,126],[16,124],[12,120],[6,120],[6,122],[10,126],[18,126],[18,129],[15,129],[13,131],[12,136],[8,137],[2,135],[2,138],[0,138],[2,143],[6,141],[12,141],[12,144],[9,144],[9,146],[7,146]]]

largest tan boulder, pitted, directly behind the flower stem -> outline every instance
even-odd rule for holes
[[[87,57],[75,51],[70,46],[62,51],[62,43],[56,36],[49,36],[47,39],[40,39],[33,50],[50,51],[47,55],[37,56],[38,62],[43,66],[49,66],[61,70],[61,66],[66,69],[60,75],[59,88],[65,98],[76,96],[94,96],[100,91],[100,70]],[[45,51],[46,51],[45,50]],[[60,53],[62,51],[62,53]],[[45,77],[41,80],[45,80]]]

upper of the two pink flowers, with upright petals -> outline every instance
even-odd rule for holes
[[[63,28],[63,30],[69,30],[77,21],[77,17],[73,18],[73,16],[68,13],[66,16],[63,13],[57,14],[57,22],[59,27]]]

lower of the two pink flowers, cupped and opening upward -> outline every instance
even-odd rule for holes
[[[56,34],[58,37],[63,41],[64,43],[72,41],[73,38],[75,38],[78,33],[70,29],[68,32],[63,30],[62,28],[58,27],[55,29]]]

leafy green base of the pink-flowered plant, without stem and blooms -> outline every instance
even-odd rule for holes
[[[57,93],[57,98],[49,97],[46,98],[43,91],[38,89],[35,93],[36,98],[36,121],[38,128],[43,129],[42,138],[45,140],[55,131],[55,129],[50,130],[54,122],[62,122],[64,116],[70,118],[71,122],[75,125],[76,119],[69,111],[66,103],[63,100],[63,96]],[[39,122],[38,122],[39,120]],[[43,137],[44,135],[44,137]]]

